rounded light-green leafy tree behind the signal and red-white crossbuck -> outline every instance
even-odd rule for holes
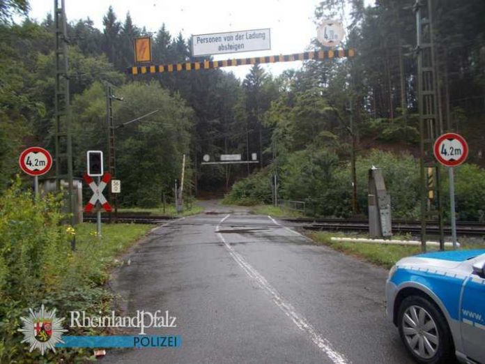
[[[157,82],[132,82],[116,89],[123,102],[114,104],[116,125],[160,110],[149,118],[116,129],[116,177],[123,181],[127,206],[157,206],[162,192],[171,195],[175,179],[180,178],[182,156],[190,166],[190,135],[194,116],[179,96],[170,96]],[[95,82],[72,105],[73,149],[79,156],[75,174],[85,169],[85,151],[107,148],[105,88]],[[186,170],[190,190],[192,169]]]

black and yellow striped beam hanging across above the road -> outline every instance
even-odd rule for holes
[[[128,73],[131,75],[144,75],[146,73],[165,73],[165,72],[179,72],[190,70],[210,70],[213,68],[243,66],[257,63],[275,63],[275,62],[292,62],[292,61],[306,61],[308,59],[334,59],[354,57],[355,50],[320,50],[313,52],[303,52],[294,54],[279,54],[278,56],[263,56],[252,58],[238,58],[226,59],[224,61],[199,61],[199,62],[184,62],[172,64],[146,65],[134,66],[128,68]]]

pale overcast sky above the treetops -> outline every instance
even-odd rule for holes
[[[61,1],[61,0],[59,0]],[[102,29],[102,17],[113,6],[118,20],[123,22],[130,12],[134,24],[157,31],[162,23],[172,36],[182,32],[184,38],[192,34],[220,33],[247,29],[271,29],[271,50],[222,54],[214,59],[232,59],[249,56],[268,56],[304,52],[311,38],[316,37],[314,10],[318,0],[66,0],[68,21],[93,20]],[[32,18],[43,20],[52,13],[54,0],[31,0]],[[274,75],[288,68],[300,68],[301,62],[272,63],[264,66]],[[244,78],[250,66],[228,67]]]

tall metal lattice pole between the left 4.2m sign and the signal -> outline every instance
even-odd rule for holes
[[[74,193],[72,189],[72,135],[69,98],[69,64],[68,64],[68,34],[66,24],[66,11],[64,0],[54,0],[54,24],[56,27],[56,85],[55,85],[55,162],[56,162],[56,188],[61,189],[61,180],[68,182],[68,212],[71,215],[71,224],[75,225]],[[75,241],[72,240],[72,249]]]

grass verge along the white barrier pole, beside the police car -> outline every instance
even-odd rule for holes
[[[339,250],[348,255],[353,255],[360,259],[369,261],[372,264],[391,268],[396,262],[410,255],[417,255],[421,252],[419,246],[408,245],[389,245],[389,244],[375,244],[375,243],[346,243],[342,241],[331,241],[332,236],[345,237],[341,233],[329,232],[308,232],[307,236],[311,238],[316,244],[327,245],[334,250]],[[479,243],[464,242],[462,249],[485,249],[485,245]],[[429,248],[431,251],[438,250],[437,248]]]

